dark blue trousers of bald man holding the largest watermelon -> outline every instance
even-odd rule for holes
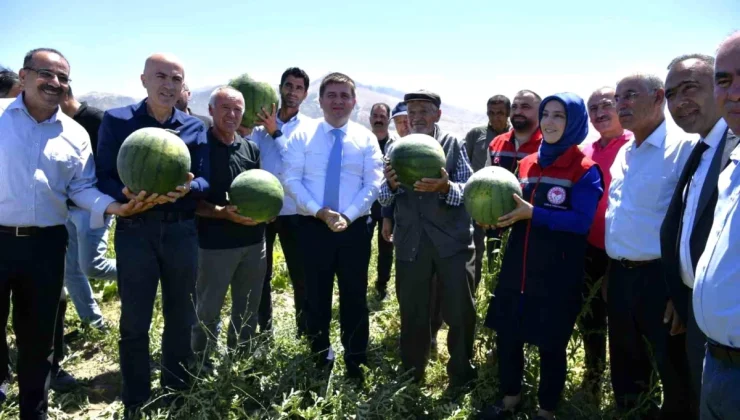
[[[162,285],[163,388],[184,389],[192,361],[191,328],[195,323],[198,238],[193,219],[158,220],[157,213],[118,218],[116,262],[121,297],[119,355],[123,404],[145,403],[150,396],[149,328]]]

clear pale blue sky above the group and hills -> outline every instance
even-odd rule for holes
[[[663,76],[674,56],[711,54],[740,29],[738,0],[0,0],[0,10],[0,63],[17,70],[28,50],[57,48],[78,94],[142,97],[144,60],[162,51],[183,60],[193,88],[243,72],[277,84],[299,66],[470,109],[522,88],[587,95],[630,72]]]

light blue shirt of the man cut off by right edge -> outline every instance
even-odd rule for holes
[[[740,348],[740,146],[719,176],[707,246],[696,266],[694,315],[704,334]]]

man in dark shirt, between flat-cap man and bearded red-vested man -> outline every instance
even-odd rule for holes
[[[475,127],[465,136],[465,151],[470,158],[470,166],[473,172],[478,172],[487,166],[490,159],[488,146],[494,138],[511,130],[509,124],[509,112],[511,112],[511,101],[504,95],[494,95],[486,103],[486,115],[488,124]],[[473,239],[475,242],[475,287],[481,279],[483,271],[483,254],[486,251],[487,232],[477,224],[474,224]],[[493,234],[493,232],[491,232]],[[493,246],[488,247],[488,257],[491,258]]]

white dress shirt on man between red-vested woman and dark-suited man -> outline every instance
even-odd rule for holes
[[[617,260],[660,258],[660,225],[696,143],[658,126],[637,147],[630,140],[611,166],[606,210],[606,253]]]

